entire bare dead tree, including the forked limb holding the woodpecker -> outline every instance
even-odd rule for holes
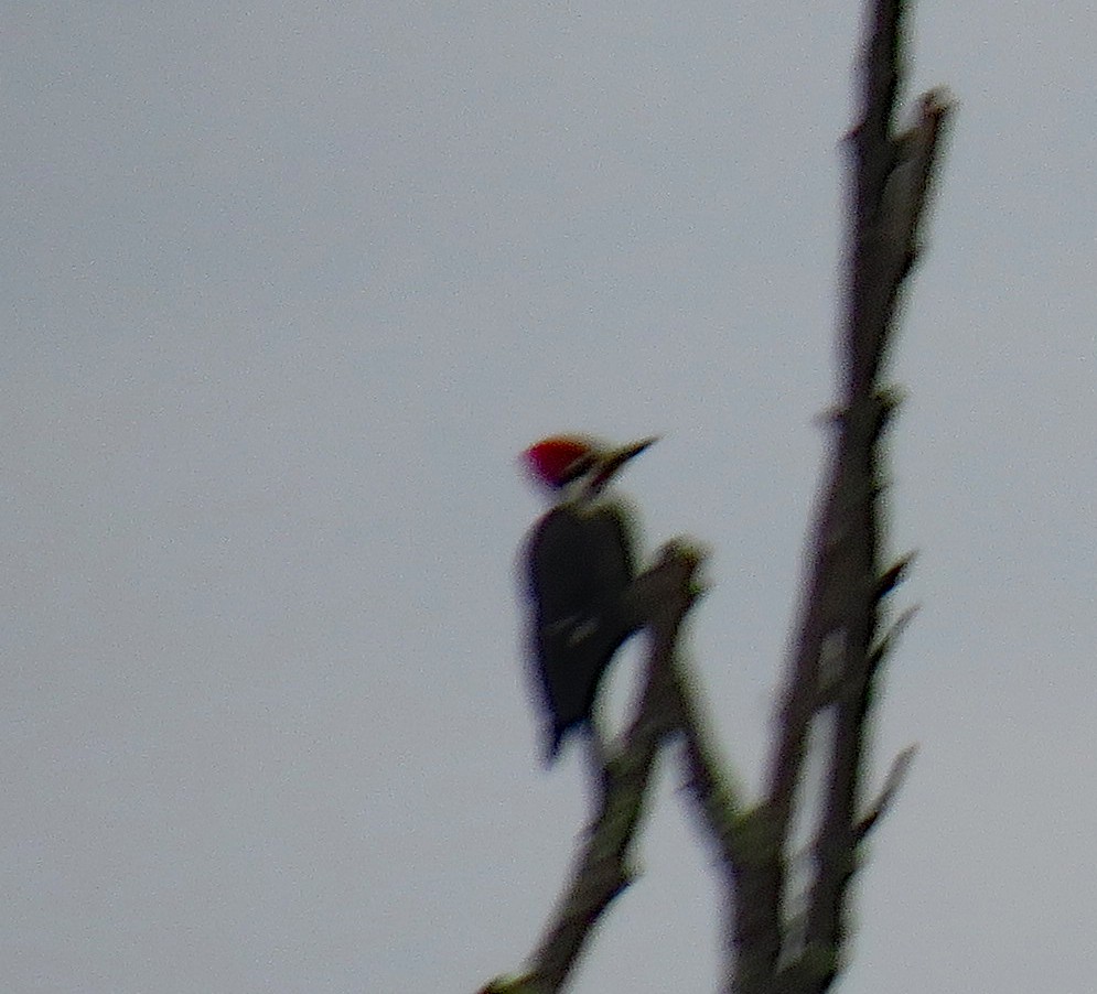
[[[628,885],[628,854],[642,826],[656,754],[684,744],[684,774],[719,852],[724,886],[728,994],[821,994],[846,955],[849,893],[861,844],[886,809],[911,759],[893,763],[883,790],[864,799],[868,720],[881,663],[908,615],[890,627],[883,608],[910,557],[885,559],[880,498],[882,437],[897,398],[881,382],[949,105],[924,95],[917,117],[896,132],[902,71],[901,0],[871,0],[860,73],[862,118],[850,136],[851,218],[842,382],[833,445],[820,491],[806,596],[788,661],[773,757],[763,796],[736,796],[701,719],[696,680],[675,641],[696,597],[700,553],[677,544],[637,582],[652,639],[647,690],[622,754],[605,771],[604,803],[545,939],[519,977],[483,994],[550,994],[563,988],[599,918]],[[816,735],[811,733],[816,732]],[[809,743],[824,750],[815,786],[820,817],[810,840],[806,890],[793,893],[798,788]]]

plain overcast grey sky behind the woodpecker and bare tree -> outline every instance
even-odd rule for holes
[[[378,12],[379,11],[379,12]],[[1097,15],[924,0],[959,112],[893,363],[922,605],[847,994],[1097,983]],[[584,819],[516,453],[659,433],[756,782],[832,398],[859,4],[9,4],[0,960],[15,992],[467,992]],[[623,668],[615,683],[626,680]],[[578,992],[713,988],[674,768]]]

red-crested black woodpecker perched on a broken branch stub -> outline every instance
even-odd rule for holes
[[[627,512],[604,491],[654,441],[604,449],[590,439],[558,435],[525,453],[533,474],[558,501],[534,527],[527,548],[549,763],[571,728],[590,726],[599,682],[639,627],[624,605],[636,573]]]

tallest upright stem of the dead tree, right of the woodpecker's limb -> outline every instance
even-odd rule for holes
[[[799,635],[789,665],[763,819],[762,858],[741,880],[736,942],[742,962],[733,988],[753,992],[826,990],[837,974],[846,936],[846,894],[857,846],[885,803],[865,818],[858,798],[874,678],[905,616],[882,639],[881,601],[901,581],[910,558],[881,565],[881,437],[895,408],[879,382],[902,283],[917,255],[917,236],[949,111],[927,94],[915,123],[892,133],[902,82],[901,0],[873,0],[865,46],[863,117],[856,153],[850,231],[849,310],[843,336],[843,396],[838,433],[818,512]],[[815,717],[832,709],[822,784],[822,817],[813,845],[815,880],[803,934],[786,922],[783,854],[791,843],[796,790]],[[743,954],[743,947],[750,952]]]

